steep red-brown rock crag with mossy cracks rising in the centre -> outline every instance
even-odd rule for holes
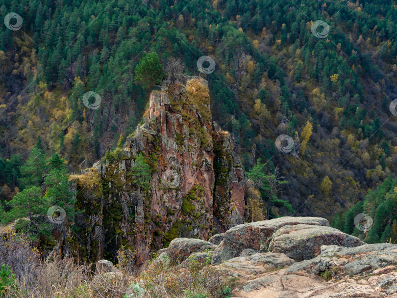
[[[141,190],[130,171],[140,153],[150,165],[148,190]],[[176,237],[207,240],[214,221],[222,228],[230,209],[244,214],[243,169],[227,132],[211,120],[203,79],[153,91],[122,157],[103,162],[87,174],[99,180],[96,195],[77,183],[82,190],[78,200],[96,206],[86,210],[87,226],[96,229],[83,232],[90,243],[83,259],[114,255],[124,245],[133,246],[142,263]]]

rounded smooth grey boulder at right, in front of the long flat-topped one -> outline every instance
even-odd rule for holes
[[[322,245],[359,246],[364,244],[357,237],[338,229],[324,226],[298,224],[284,226],[273,234],[269,251],[282,252],[290,258],[309,260],[321,252]]]

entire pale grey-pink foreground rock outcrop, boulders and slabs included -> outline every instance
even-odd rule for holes
[[[188,258],[222,270],[234,298],[397,298],[397,245],[365,244],[319,217],[235,226],[203,241],[177,238],[175,275]]]

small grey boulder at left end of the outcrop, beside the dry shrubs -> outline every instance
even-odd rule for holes
[[[194,238],[175,238],[167,248],[160,249],[157,255],[166,253],[173,264],[186,260],[193,252],[199,251],[204,245],[213,245],[210,242]]]

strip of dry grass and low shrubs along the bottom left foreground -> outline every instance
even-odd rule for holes
[[[134,251],[119,250],[112,272],[93,272],[89,265],[61,259],[53,251],[40,259],[37,249],[20,234],[0,238],[0,265],[10,266],[13,284],[3,287],[4,298],[221,298],[224,274],[206,263],[189,259],[176,271],[168,257],[157,258],[143,269],[134,267]]]

